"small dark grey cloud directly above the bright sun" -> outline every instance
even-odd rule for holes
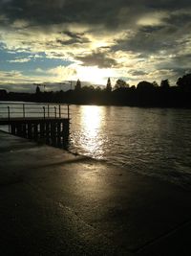
[[[77,57],[76,59],[82,61],[84,66],[111,68],[117,65],[117,61],[114,58],[108,58],[104,53],[93,53],[85,57]]]

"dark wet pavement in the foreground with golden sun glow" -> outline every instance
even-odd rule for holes
[[[191,193],[0,132],[0,255],[191,255]]]

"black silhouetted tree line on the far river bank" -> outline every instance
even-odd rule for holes
[[[0,90],[1,101],[48,102],[74,105],[130,105],[156,107],[191,107],[191,74],[178,79],[176,85],[170,86],[168,80],[140,81],[130,86],[118,79],[112,86],[108,79],[104,88],[82,86],[76,81],[74,89],[68,91],[44,91],[36,87],[35,93],[16,93]]]

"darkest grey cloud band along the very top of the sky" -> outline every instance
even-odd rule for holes
[[[0,12],[10,20],[26,19],[37,24],[85,22],[113,27],[124,21],[131,24],[132,19],[147,11],[179,10],[191,4],[189,0],[1,0],[0,5]]]

